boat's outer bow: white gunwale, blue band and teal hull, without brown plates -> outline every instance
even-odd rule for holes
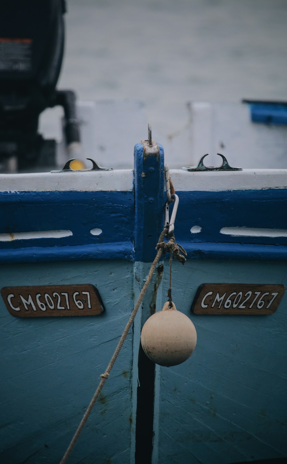
[[[160,367],[140,347],[143,323],[166,301],[164,259],[71,463],[286,456],[286,296],[265,316],[190,309],[202,284],[286,286],[286,174],[170,171],[176,241],[187,251],[186,264],[173,265],[173,300],[196,326],[195,352]],[[1,174],[0,185],[1,289],[18,289],[13,315],[5,297],[0,302],[0,461],[58,462],[155,257],[166,201],[163,147],[138,143],[134,170]],[[66,286],[87,284],[103,302],[98,316],[13,317],[44,314],[41,302],[63,315]],[[38,303],[19,300],[19,287],[40,293],[54,285],[62,295],[60,303],[52,297],[54,309],[44,294]]]

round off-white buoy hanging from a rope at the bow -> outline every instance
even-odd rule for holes
[[[186,361],[196,347],[196,328],[189,317],[169,302],[145,322],[141,342],[144,353],[160,366],[176,366]]]

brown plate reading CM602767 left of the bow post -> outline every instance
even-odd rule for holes
[[[1,295],[16,317],[97,316],[104,311],[98,290],[91,284],[4,287]]]

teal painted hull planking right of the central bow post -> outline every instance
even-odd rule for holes
[[[174,268],[173,299],[189,316],[203,280],[287,284],[286,263],[198,260]],[[160,369],[158,462],[286,456],[286,296],[272,316],[194,314],[192,321],[195,352],[179,366]]]

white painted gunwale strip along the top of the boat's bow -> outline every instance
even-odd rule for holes
[[[176,191],[287,189],[287,169],[188,172],[171,169]],[[133,170],[0,174],[0,192],[131,191]]]

